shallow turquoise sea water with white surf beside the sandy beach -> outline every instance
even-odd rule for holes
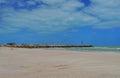
[[[80,48],[64,48],[71,51],[92,51],[92,52],[120,52],[120,47],[80,47]]]

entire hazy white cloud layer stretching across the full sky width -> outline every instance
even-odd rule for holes
[[[35,0],[40,2],[41,0]],[[91,5],[76,11],[76,8],[85,6],[78,0],[42,0],[50,5],[28,11],[18,11],[11,8],[2,8],[2,23],[0,30],[16,32],[22,28],[38,31],[39,33],[54,33],[64,31],[75,26],[93,26],[95,28],[112,28],[120,26],[119,0],[91,0]],[[117,3],[114,3],[114,2]],[[35,2],[28,2],[34,5]],[[21,4],[22,5],[22,4]],[[58,7],[59,6],[59,7]],[[4,31],[3,31],[4,32]]]

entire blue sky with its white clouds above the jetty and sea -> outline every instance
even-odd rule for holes
[[[0,43],[120,46],[120,0],[0,0]]]

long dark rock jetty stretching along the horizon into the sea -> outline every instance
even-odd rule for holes
[[[16,44],[7,43],[5,45],[0,45],[0,47],[15,47],[15,48],[72,48],[72,47],[93,47],[93,45],[33,45],[33,44]]]

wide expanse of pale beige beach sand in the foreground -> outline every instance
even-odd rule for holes
[[[2,47],[0,78],[120,78],[120,53]]]

